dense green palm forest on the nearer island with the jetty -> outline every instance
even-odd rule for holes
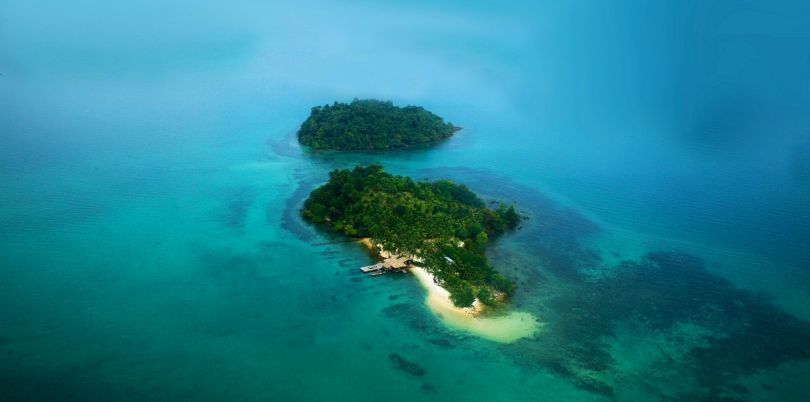
[[[302,214],[349,236],[371,237],[386,250],[421,257],[457,306],[476,297],[494,304],[512,294],[512,282],[489,265],[484,249],[490,236],[516,228],[521,218],[513,206],[488,208],[463,184],[414,181],[379,165],[334,170],[310,193]]]

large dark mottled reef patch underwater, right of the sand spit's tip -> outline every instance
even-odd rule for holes
[[[651,394],[683,400],[745,400],[733,380],[810,359],[810,323],[709,273],[694,256],[654,252],[613,269],[609,278],[579,280],[552,298],[546,336],[524,343],[516,357],[591,392],[615,396],[632,375],[645,378]],[[627,342],[626,332],[617,333],[626,327],[657,353],[630,373],[613,346]],[[671,378],[687,389],[674,394]]]

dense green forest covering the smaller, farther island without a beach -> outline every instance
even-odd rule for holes
[[[392,149],[445,139],[456,130],[419,106],[355,99],[313,107],[298,130],[298,141],[316,149]]]

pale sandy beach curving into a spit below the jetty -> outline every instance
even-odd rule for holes
[[[371,239],[362,238],[359,242],[375,251]],[[384,250],[376,251],[380,255],[389,255]],[[427,307],[442,323],[452,329],[500,343],[530,338],[540,330],[541,323],[528,312],[511,311],[504,315],[487,316],[485,306],[478,300],[475,300],[471,307],[456,307],[450,299],[450,292],[436,283],[433,274],[421,267],[411,267],[410,272],[427,291],[425,297]]]

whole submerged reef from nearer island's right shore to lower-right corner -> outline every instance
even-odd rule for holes
[[[531,188],[467,168],[425,174],[461,178],[532,217],[509,236],[518,247],[488,253],[512,268],[502,272],[520,286],[516,304],[545,322],[543,336],[503,347],[526,367],[618,400],[641,392],[742,401],[754,396],[738,380],[810,359],[810,323],[712,274],[701,258],[656,251],[608,264],[582,242],[597,225]]]

